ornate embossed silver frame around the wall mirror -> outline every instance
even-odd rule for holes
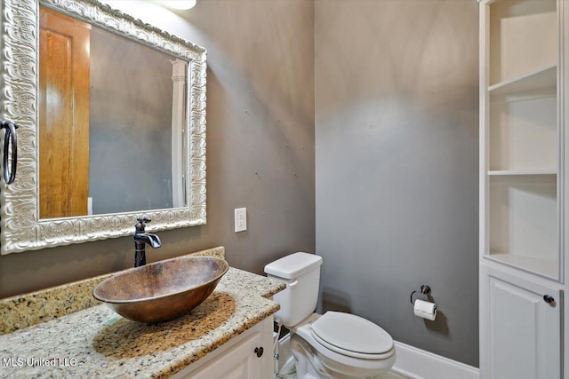
[[[96,0],[3,0],[2,118],[18,129],[18,176],[0,187],[1,254],[44,249],[132,234],[137,213],[40,219],[37,159],[37,73],[39,4],[188,61],[190,170],[186,208],[149,210],[149,231],[205,224],[206,51],[193,43],[134,20]],[[0,146],[2,144],[0,143]]]

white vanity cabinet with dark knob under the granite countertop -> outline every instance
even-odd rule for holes
[[[262,350],[260,350],[262,348]],[[273,377],[273,317],[233,337],[184,368],[173,379],[266,379]]]

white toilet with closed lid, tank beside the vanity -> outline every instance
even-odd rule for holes
[[[344,312],[314,313],[322,257],[294,253],[265,266],[269,278],[286,282],[274,296],[278,324],[291,333],[299,379],[374,378],[395,362],[389,334],[372,321]]]

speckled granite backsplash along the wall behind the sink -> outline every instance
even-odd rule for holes
[[[225,259],[225,248],[220,246],[188,255]],[[115,273],[0,300],[0,335],[100,304],[92,296],[92,288]]]

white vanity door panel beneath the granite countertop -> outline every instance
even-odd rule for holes
[[[255,353],[255,348],[260,346],[262,346],[261,335],[255,332],[234,348],[226,351],[222,361],[213,360],[187,377],[191,379],[261,379],[262,365]],[[268,350],[270,346],[264,346],[263,355],[270,355]]]

